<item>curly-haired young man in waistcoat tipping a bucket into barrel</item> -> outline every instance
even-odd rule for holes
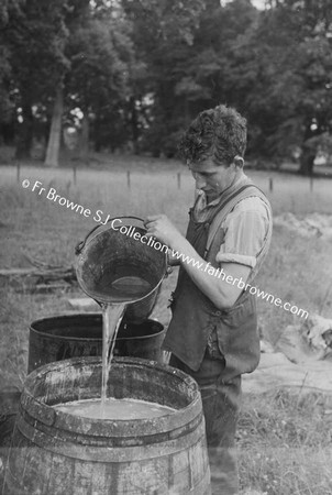
[[[239,492],[241,375],[259,361],[256,296],[246,284],[253,286],[272,237],[269,202],[243,173],[245,147],[240,113],[224,106],[201,112],[179,146],[197,188],[186,238],[164,215],[146,221],[148,234],[198,262],[180,260],[164,349],[171,352],[169,364],[200,386],[222,495]]]

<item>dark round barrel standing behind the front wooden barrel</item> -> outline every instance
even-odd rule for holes
[[[162,361],[164,326],[155,320],[121,322],[114,355]],[[30,326],[27,373],[38,366],[102,351],[100,314],[62,315],[35,320]]]

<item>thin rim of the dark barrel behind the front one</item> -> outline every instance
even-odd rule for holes
[[[57,336],[57,334],[54,334],[54,333],[51,334],[51,333],[47,333],[45,331],[37,330],[36,328],[33,327],[34,323],[40,323],[42,321],[53,320],[54,318],[57,318],[57,319],[60,319],[60,318],[68,318],[68,319],[70,319],[70,318],[73,318],[74,319],[74,318],[78,318],[78,317],[87,318],[87,317],[90,317],[90,316],[95,317],[95,318],[100,317],[100,323],[102,324],[102,312],[60,314],[60,315],[54,315],[54,316],[51,316],[51,317],[40,318],[37,320],[32,321],[30,323],[30,332],[35,333],[37,336],[42,336],[44,338],[48,338],[48,339],[52,338],[52,340],[53,339],[60,339],[60,340],[68,340],[68,341],[75,341],[75,342],[76,341],[79,341],[79,342],[81,342],[81,341],[84,341],[84,342],[90,342],[90,341],[92,341],[92,342],[102,342],[102,337],[101,338],[96,338],[96,337],[66,337],[66,336]],[[163,333],[166,332],[166,329],[165,329],[164,324],[161,323],[161,321],[154,320],[152,318],[146,318],[143,322],[146,322],[146,321],[153,321],[157,327],[161,327],[161,330],[158,332],[156,332],[156,333],[153,333],[152,336],[151,334],[150,336],[137,336],[137,337],[130,337],[130,338],[128,338],[128,337],[117,337],[117,340],[121,341],[121,340],[151,339],[152,337],[159,337],[159,336],[162,336]],[[137,324],[137,326],[139,324],[143,324],[143,323],[132,323],[132,322],[125,322],[125,321],[124,321],[124,323],[126,323],[126,324]]]

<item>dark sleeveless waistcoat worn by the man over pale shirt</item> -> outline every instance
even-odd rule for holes
[[[211,222],[217,216],[220,216],[222,220],[225,217],[224,213],[228,215],[230,211],[228,206],[236,205],[251,196],[258,196],[268,205],[264,194],[247,183],[211,209],[211,215],[204,222],[196,221],[193,208],[190,209],[186,238],[197,253],[213,267],[218,267],[215,255],[223,242],[224,231],[221,228],[218,229],[207,252]],[[170,308],[173,318],[163,348],[175,354],[191,370],[197,371],[200,367],[209,336],[213,331],[218,336],[219,349],[225,359],[224,381],[255,370],[259,362],[255,296],[248,292],[242,292],[232,308],[220,310],[197,287],[181,266]]]

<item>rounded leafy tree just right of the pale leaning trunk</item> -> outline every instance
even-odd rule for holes
[[[70,59],[65,78],[67,108],[76,106],[82,111],[87,132],[89,123],[93,124],[98,146],[108,143],[115,147],[121,138],[115,128],[121,129],[119,122],[124,127],[133,56],[130,25],[121,7],[91,11],[89,19],[71,32],[66,55]],[[128,138],[128,133],[122,134]]]

